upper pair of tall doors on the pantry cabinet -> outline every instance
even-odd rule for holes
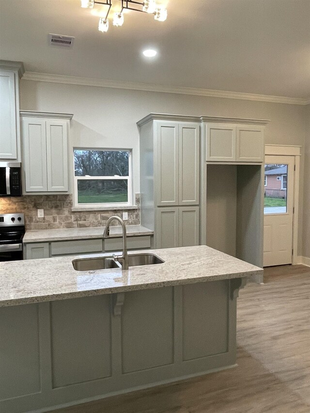
[[[156,122],[157,206],[199,204],[199,125]]]

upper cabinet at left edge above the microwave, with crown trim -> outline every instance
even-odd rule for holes
[[[0,61],[0,159],[20,161],[19,78],[24,66]]]

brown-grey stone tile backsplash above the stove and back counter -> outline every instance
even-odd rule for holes
[[[23,195],[0,198],[0,214],[24,213],[26,230],[104,227],[112,215],[122,217],[128,212],[127,225],[140,224],[140,194],[136,194],[135,210],[72,211],[72,195]],[[38,209],[44,209],[44,217],[38,218]],[[117,225],[113,222],[112,225]]]

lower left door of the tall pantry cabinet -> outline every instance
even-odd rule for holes
[[[157,208],[155,248],[179,246],[179,208]]]

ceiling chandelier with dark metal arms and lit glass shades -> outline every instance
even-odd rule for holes
[[[156,21],[165,21],[167,19],[167,10],[156,4],[155,0],[121,0],[122,9],[119,13],[113,15],[113,26],[122,26],[124,23],[123,10],[135,10],[136,12],[149,13],[154,15]],[[109,12],[112,7],[112,0],[96,1],[96,0],[81,0],[81,7],[92,9],[95,4],[103,4],[108,6],[108,11],[105,17],[99,19],[98,30],[105,32],[109,29]],[[139,7],[140,6],[140,7]]]

